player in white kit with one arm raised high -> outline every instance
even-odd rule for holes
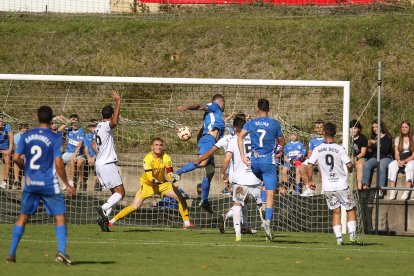
[[[98,224],[103,232],[109,232],[108,215],[112,207],[125,196],[125,188],[116,165],[118,157],[115,152],[113,132],[119,121],[121,97],[117,91],[112,91],[112,98],[115,100],[115,109],[111,105],[102,108],[102,122],[96,126],[92,143],[96,152],[96,175],[101,185],[112,193],[105,204],[97,209],[100,216]]]

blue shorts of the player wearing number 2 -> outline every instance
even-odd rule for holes
[[[33,215],[36,212],[37,207],[39,207],[40,200],[43,201],[43,205],[49,216],[65,214],[65,199],[62,194],[42,194],[26,191],[23,191],[20,213]]]

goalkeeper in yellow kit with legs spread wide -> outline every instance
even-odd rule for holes
[[[116,221],[123,219],[138,210],[145,199],[158,194],[161,197],[169,196],[178,201],[178,210],[184,221],[184,228],[193,227],[190,223],[187,202],[177,187],[172,185],[173,166],[171,157],[164,153],[164,141],[157,137],[151,141],[151,151],[144,157],[144,173],[140,178],[141,187],[135,195],[132,205],[122,209],[108,223],[112,226]]]

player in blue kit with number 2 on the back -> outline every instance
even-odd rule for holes
[[[39,126],[26,131],[20,138],[13,160],[25,171],[20,215],[13,227],[8,263],[16,262],[16,250],[23,236],[25,225],[30,216],[36,212],[39,201],[43,201],[46,212],[55,217],[58,252],[56,261],[71,265],[66,255],[67,229],[65,220],[65,201],[59,186],[62,179],[72,196],[75,188],[69,185],[66,178],[65,165],[62,160],[62,136],[50,129],[52,109],[41,106],[37,110]],[[23,161],[22,156],[25,156]],[[57,174],[56,174],[57,173]]]

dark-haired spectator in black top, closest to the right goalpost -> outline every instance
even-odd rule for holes
[[[354,164],[357,173],[358,190],[362,189],[362,172],[365,162],[367,161],[368,139],[361,133],[362,125],[357,120],[352,120],[349,124],[351,135],[354,138],[352,150],[354,155]]]

